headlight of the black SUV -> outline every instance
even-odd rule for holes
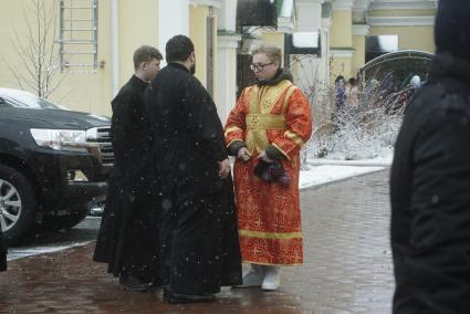
[[[56,150],[100,151],[97,143],[86,142],[86,132],[82,129],[31,128],[31,135],[39,146]]]

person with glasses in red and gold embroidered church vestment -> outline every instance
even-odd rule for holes
[[[303,263],[299,200],[300,150],[312,133],[305,95],[281,69],[282,52],[252,52],[257,84],[241,93],[226,124],[226,143],[237,157],[233,176],[243,262],[243,287],[280,286],[280,266]]]

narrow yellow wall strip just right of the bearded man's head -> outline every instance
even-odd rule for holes
[[[206,86],[207,82],[207,17],[206,6],[189,7],[189,36],[196,50],[196,76]]]

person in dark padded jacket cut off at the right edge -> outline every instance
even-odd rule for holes
[[[440,0],[390,178],[394,313],[470,313],[470,1]]]

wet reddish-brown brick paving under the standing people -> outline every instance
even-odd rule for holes
[[[170,305],[133,293],[91,260],[94,243],[14,260],[0,273],[0,313],[390,313],[388,171],[301,192],[305,264],[276,292],[223,289],[217,302]]]

